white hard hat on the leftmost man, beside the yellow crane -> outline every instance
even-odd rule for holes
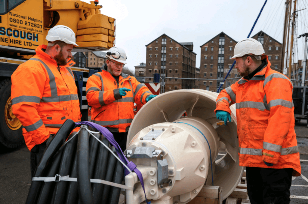
[[[74,31],[65,25],[56,25],[55,27],[51,28],[48,31],[46,40],[50,42],[59,40],[67,44],[78,46],[76,44],[76,37]]]

